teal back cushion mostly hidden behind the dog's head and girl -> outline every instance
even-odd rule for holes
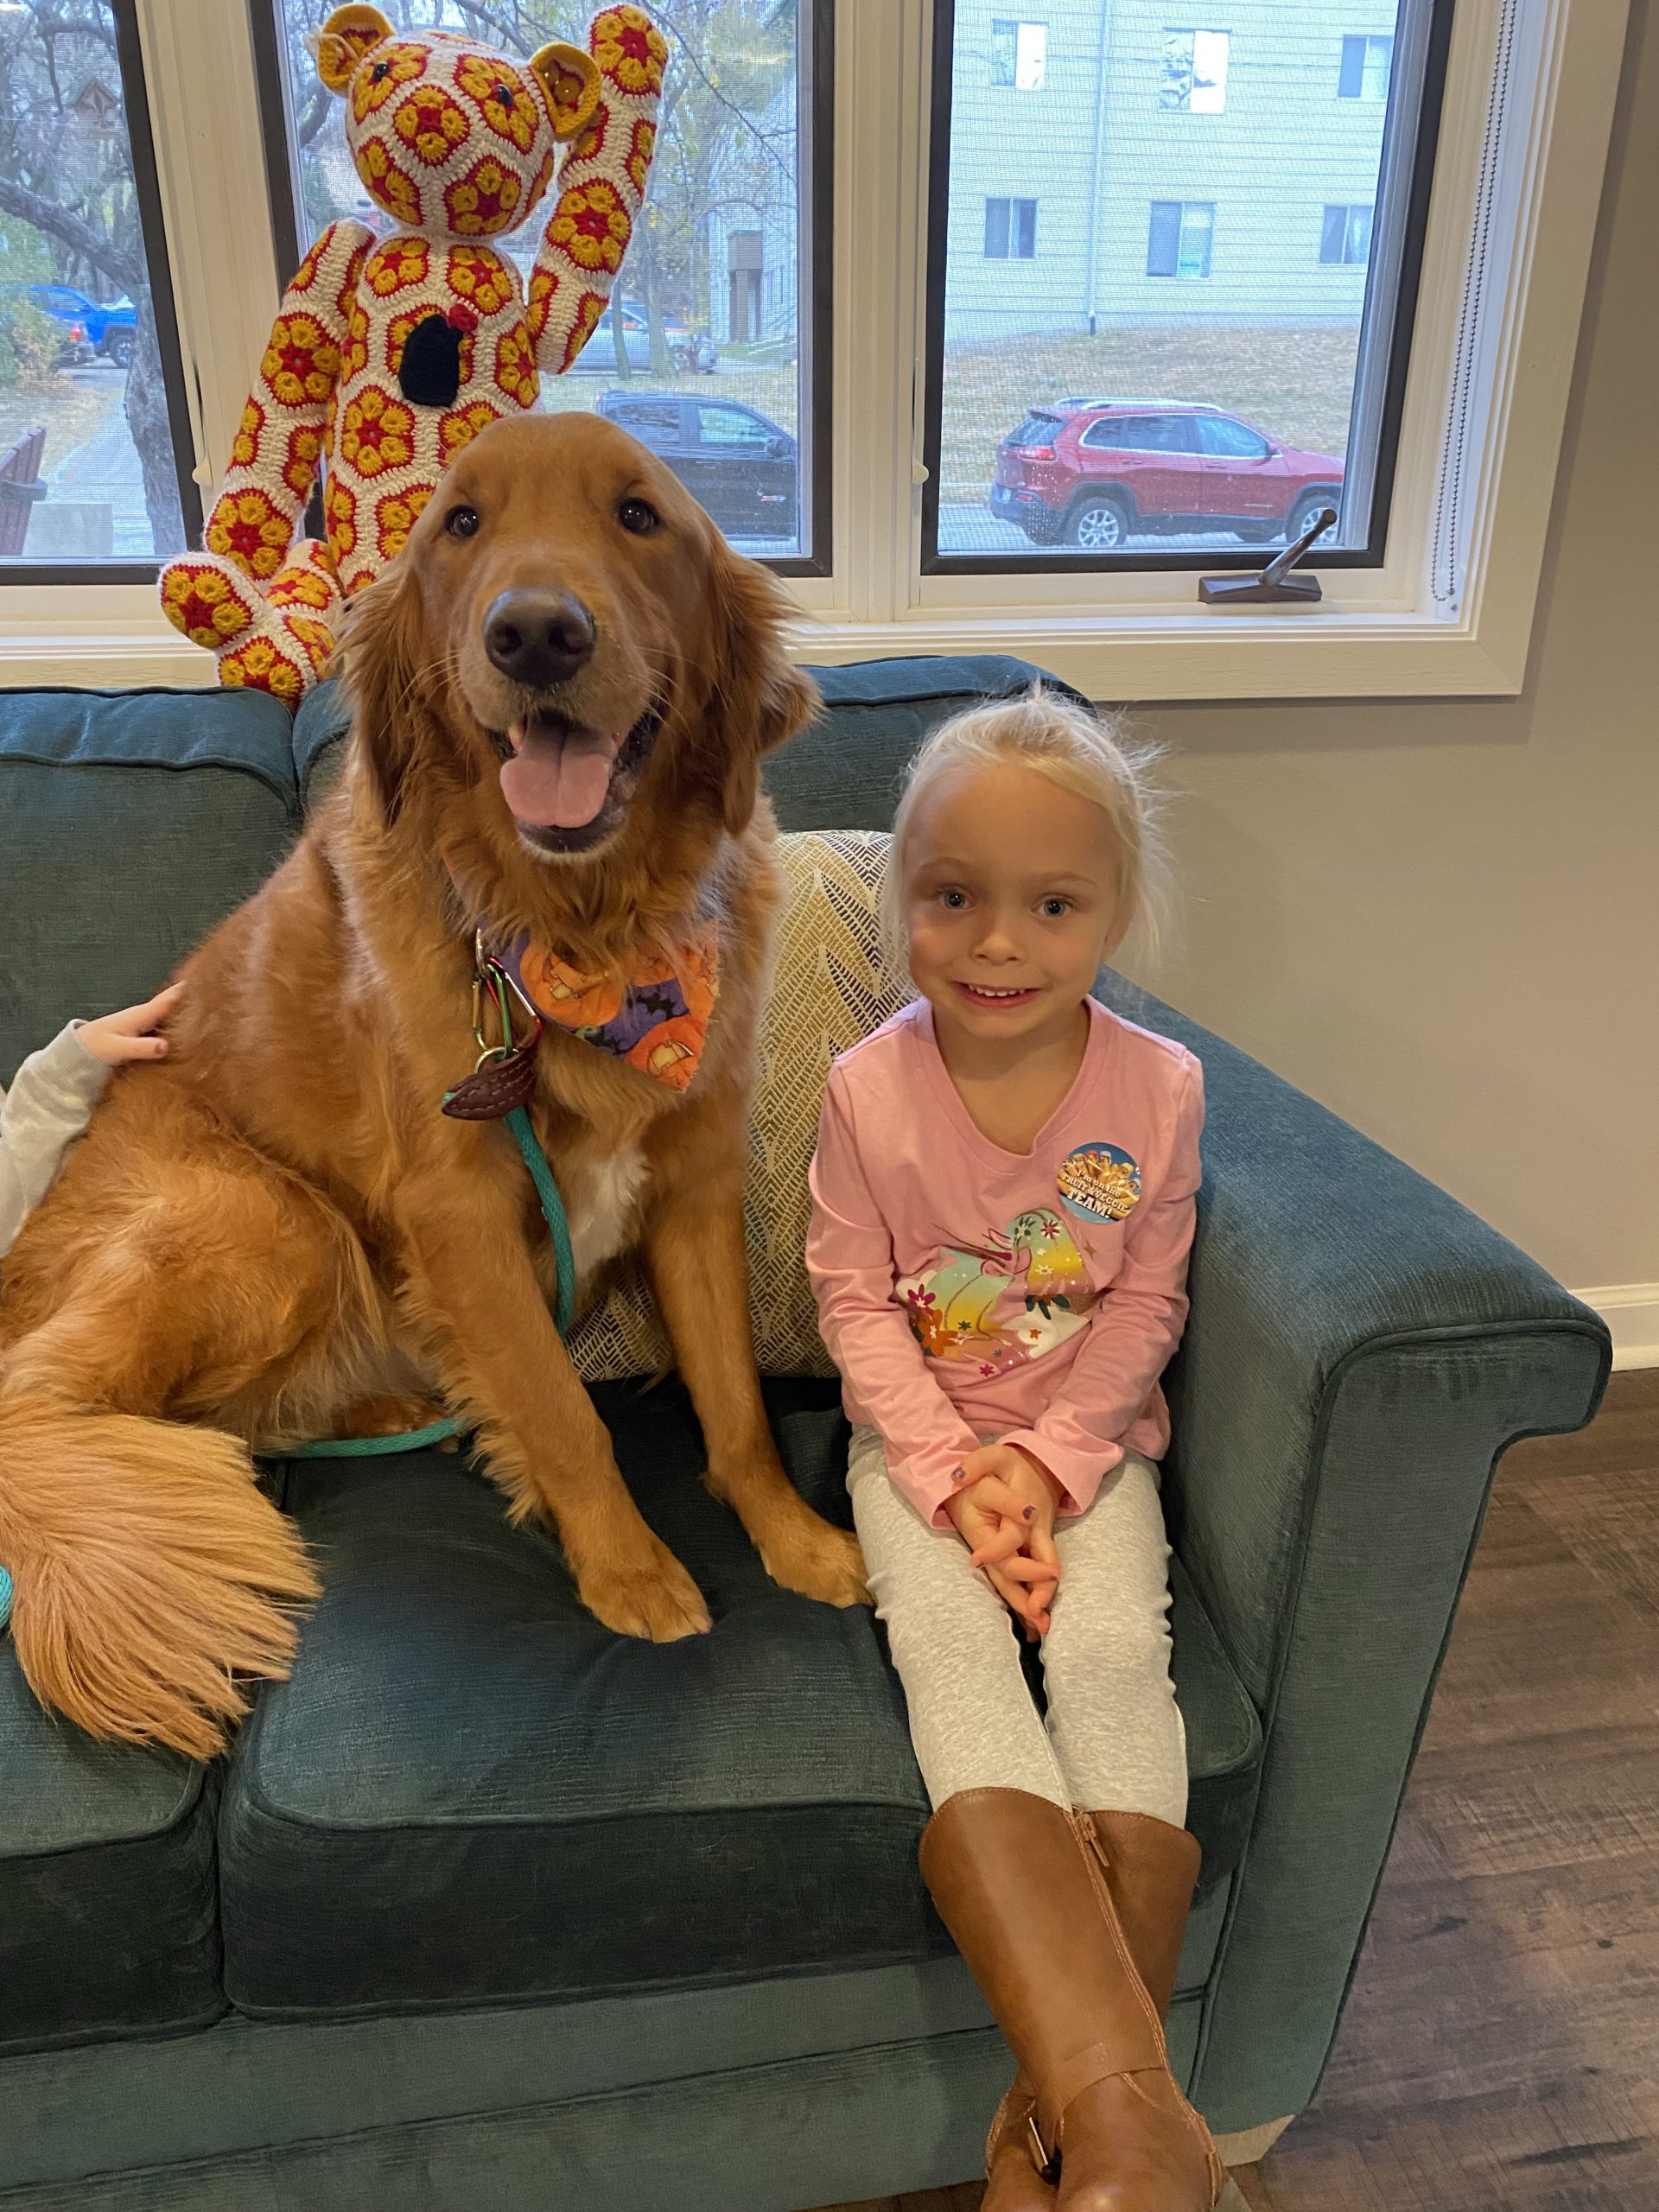
[[[781,830],[885,830],[898,779],[936,723],[978,699],[1006,699],[1055,677],[1006,653],[914,655],[807,668],[823,692],[823,719],[765,763],[765,790]],[[336,681],[307,692],[292,726],[294,772],[310,812],[341,772],[345,697]]]

